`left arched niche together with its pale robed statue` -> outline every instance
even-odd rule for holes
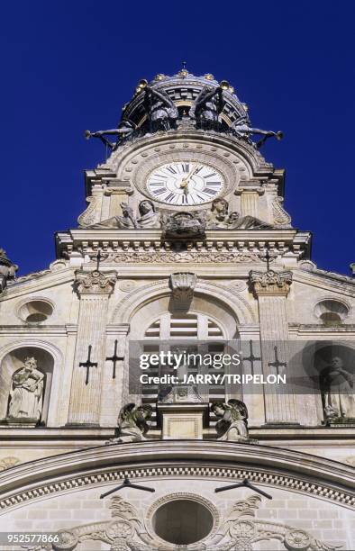
[[[38,425],[46,424],[53,366],[53,357],[42,348],[22,347],[6,354],[0,369],[3,422],[32,420]]]

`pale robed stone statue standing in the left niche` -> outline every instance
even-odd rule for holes
[[[37,369],[37,360],[26,357],[12,377],[7,419],[41,420],[43,390],[44,374]]]

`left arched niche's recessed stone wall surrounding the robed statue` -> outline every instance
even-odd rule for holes
[[[15,348],[8,352],[1,362],[0,419],[4,420],[8,414],[13,376],[23,368],[26,357],[34,357],[37,360],[36,369],[44,375],[40,423],[45,425],[50,405],[54,359],[47,350],[31,346]]]

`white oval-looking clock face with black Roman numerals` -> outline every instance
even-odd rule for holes
[[[194,206],[209,203],[221,194],[224,178],[218,170],[205,163],[172,161],[150,172],[147,188],[161,203]]]

